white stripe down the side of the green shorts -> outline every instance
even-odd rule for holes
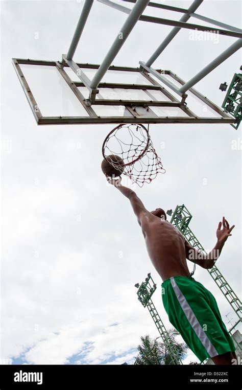
[[[196,315],[191,310],[191,307],[189,306],[188,302],[186,301],[185,296],[181,292],[180,288],[176,284],[176,281],[174,278],[171,278],[171,284],[172,284],[173,290],[177,296],[177,299],[182,307],[182,310],[184,311],[184,314],[185,314],[186,318],[188,319],[190,326],[197,334],[198,338],[200,339],[202,345],[206,349],[209,356],[214,357],[216,355],[219,355],[219,353],[217,353],[217,351],[213,347],[211,341],[207,337],[206,333],[204,332],[203,328],[199,324]]]

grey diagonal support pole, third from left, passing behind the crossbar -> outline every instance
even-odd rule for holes
[[[180,21],[186,22],[190,18],[190,13],[195,12],[198,7],[202,4],[203,0],[195,0],[191,6],[188,8],[188,13],[183,15]],[[151,66],[153,62],[159,57],[159,55],[163,52],[166,46],[172,41],[172,39],[177,35],[177,33],[181,30],[180,27],[174,27],[172,31],[167,35],[167,37],[163,40],[163,42],[156,49],[155,53],[149,58],[146,62],[146,66]]]

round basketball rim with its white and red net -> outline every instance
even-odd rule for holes
[[[116,155],[122,158],[124,174],[139,187],[150,183],[158,173],[165,173],[146,127],[141,124],[116,126],[103,143],[103,157]],[[115,169],[120,169],[117,159],[108,160]]]

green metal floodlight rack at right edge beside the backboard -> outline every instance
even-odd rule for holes
[[[228,92],[223,101],[222,107],[225,112],[229,112],[234,118],[234,124],[231,124],[235,129],[238,128],[242,119],[242,75],[235,73],[230,83]]]

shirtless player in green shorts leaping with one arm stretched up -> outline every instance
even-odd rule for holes
[[[229,227],[223,217],[216,231],[217,242],[210,254],[204,255],[166,220],[164,210],[149,212],[133,190],[120,184],[120,178],[107,179],[130,200],[149,257],[163,280],[162,301],[171,324],[200,361],[211,358],[214,364],[232,364],[236,359],[234,344],[215,298],[191,277],[186,259],[202,268],[212,268],[234,225]]]

